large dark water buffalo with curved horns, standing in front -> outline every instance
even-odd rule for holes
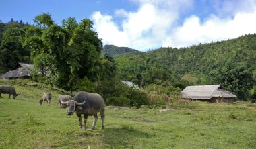
[[[105,103],[104,99],[96,93],[88,93],[85,91],[79,91],[75,94],[75,97],[71,101],[61,101],[62,104],[67,105],[67,115],[73,115],[75,112],[79,118],[79,127],[86,130],[86,122],[88,116],[94,116],[94,122],[92,123],[91,130],[95,129],[95,125],[98,119],[97,113],[100,112],[102,119],[102,129],[104,129],[105,118]],[[81,115],[84,114],[84,126],[82,124]]]

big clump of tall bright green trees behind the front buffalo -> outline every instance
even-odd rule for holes
[[[45,69],[52,85],[72,89],[84,77],[96,80],[102,42],[92,30],[92,21],[75,18],[54,23],[49,13],[34,18],[36,26],[26,31],[24,46],[32,49],[31,58],[36,68]]]

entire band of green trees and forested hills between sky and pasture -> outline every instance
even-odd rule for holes
[[[165,104],[187,85],[221,84],[241,100],[255,99],[256,34],[186,48],[139,52],[105,45],[93,22],[73,17],[56,24],[42,13],[34,24],[0,21],[0,74],[18,62],[34,64],[34,81],[69,91],[100,93],[106,103],[139,107]],[[42,79],[43,78],[43,79]],[[133,89],[120,83],[133,81]]]

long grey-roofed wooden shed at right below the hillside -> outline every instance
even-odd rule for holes
[[[183,99],[209,101],[212,103],[233,103],[237,96],[220,88],[220,85],[188,86],[181,91]]]

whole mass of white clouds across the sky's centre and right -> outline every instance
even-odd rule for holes
[[[148,50],[160,46],[182,47],[193,44],[212,42],[236,38],[243,34],[256,32],[256,5],[255,1],[248,0],[249,9],[245,9],[247,3],[236,8],[231,17],[222,17],[220,13],[231,13],[228,6],[237,6],[230,0],[214,2],[219,14],[212,14],[203,21],[191,15],[184,19],[181,26],[176,25],[181,11],[191,9],[192,0],[169,1],[169,0],[131,0],[139,5],[137,11],[125,11],[119,9],[115,15],[104,15],[94,12],[92,19],[94,29],[102,38],[104,44],[116,46],[128,46],[137,50]],[[241,0],[237,0],[242,3]],[[227,9],[224,9],[224,6]],[[243,6],[243,8],[242,8]],[[223,10],[222,10],[223,9]],[[118,23],[113,17],[121,18]]]

